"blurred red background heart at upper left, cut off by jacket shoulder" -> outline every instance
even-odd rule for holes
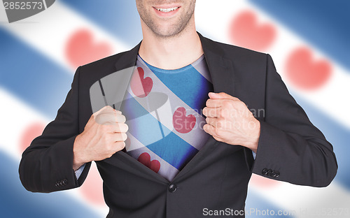
[[[92,32],[87,29],[76,31],[66,43],[66,58],[76,68],[111,55],[108,43],[95,43]]]

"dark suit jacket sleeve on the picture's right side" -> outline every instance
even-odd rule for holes
[[[253,173],[293,184],[326,187],[337,173],[332,145],[290,96],[267,54],[265,119]]]

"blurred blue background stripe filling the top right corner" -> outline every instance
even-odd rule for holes
[[[249,0],[350,72],[350,1]]]

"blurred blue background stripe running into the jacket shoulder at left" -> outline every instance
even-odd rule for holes
[[[55,118],[71,87],[73,73],[1,28],[0,38],[0,86],[46,117]]]

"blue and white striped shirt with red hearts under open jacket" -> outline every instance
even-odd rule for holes
[[[204,55],[175,70],[156,68],[138,56],[120,108],[129,126],[127,154],[173,180],[209,138],[202,109],[212,91]]]

